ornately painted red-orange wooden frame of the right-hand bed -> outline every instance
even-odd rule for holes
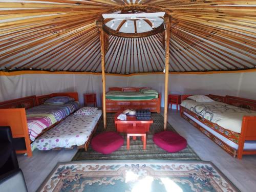
[[[182,95],[181,100],[185,100],[190,95]],[[241,108],[250,109],[256,111],[256,100],[252,99],[245,99],[241,97],[234,97],[234,96],[219,96],[219,95],[207,95],[213,100],[224,102],[227,104],[239,106]],[[223,142],[220,138],[216,137],[215,135],[208,132],[204,127],[193,121],[192,119],[188,118],[184,115],[184,112],[188,113],[189,115],[193,116],[200,122],[204,123],[206,126],[210,127],[212,130],[216,131],[217,133],[221,134],[222,136],[226,137],[230,141],[238,144],[238,150],[232,148],[225,142]],[[255,155],[256,150],[244,150],[244,142],[245,141],[255,141],[256,140],[256,116],[244,116],[242,121],[241,133],[232,132],[230,130],[226,130],[223,127],[217,125],[216,123],[212,123],[195,113],[191,112],[190,110],[181,106],[181,116],[185,118],[188,122],[193,124],[197,127],[202,133],[204,133],[207,137],[221,146],[226,152],[228,152],[233,157],[238,157],[238,159],[242,159],[243,155]],[[226,134],[224,134],[224,132]],[[228,134],[227,134],[228,133]]]

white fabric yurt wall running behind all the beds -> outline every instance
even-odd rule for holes
[[[256,99],[256,72],[218,74],[170,74],[169,93],[232,95]],[[101,105],[101,75],[93,74],[24,74],[0,75],[0,102],[30,95],[53,92],[78,92],[83,103],[83,93],[97,93]],[[162,95],[164,104],[164,74],[116,76],[106,75],[109,87],[152,87]]]

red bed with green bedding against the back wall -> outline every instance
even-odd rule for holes
[[[125,109],[147,109],[160,113],[160,94],[143,94],[142,89],[151,88],[109,88],[106,93],[106,113],[116,113]]]

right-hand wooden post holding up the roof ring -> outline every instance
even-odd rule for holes
[[[170,39],[170,18],[164,18],[165,24],[165,86],[164,86],[164,130],[167,128],[168,110],[168,75],[169,75],[169,39]]]

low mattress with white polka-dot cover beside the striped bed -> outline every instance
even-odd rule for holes
[[[97,110],[93,115],[70,115],[31,143],[32,150],[83,145],[92,134],[101,114],[101,110]]]

